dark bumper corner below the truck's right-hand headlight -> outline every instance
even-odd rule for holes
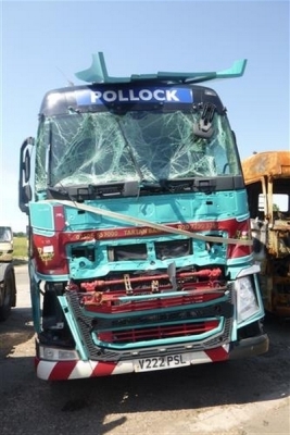
[[[243,338],[240,341],[231,344],[229,350],[229,360],[237,360],[265,353],[268,351],[268,348],[269,338],[267,334]]]

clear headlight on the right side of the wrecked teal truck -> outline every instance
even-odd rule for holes
[[[253,281],[250,276],[238,278],[235,282],[235,288],[237,291],[238,323],[242,323],[256,314],[260,308],[253,288]]]

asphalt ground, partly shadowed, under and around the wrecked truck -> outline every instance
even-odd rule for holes
[[[0,324],[2,435],[290,433],[290,322],[265,323],[267,353],[247,360],[47,383],[34,372],[27,268]]]

